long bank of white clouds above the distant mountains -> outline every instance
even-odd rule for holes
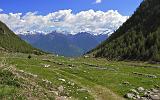
[[[116,30],[127,18],[128,16],[122,16],[116,10],[106,12],[88,10],[73,14],[69,9],[47,15],[38,15],[36,12],[0,13],[0,20],[17,34],[27,31],[51,32],[54,30],[71,34],[85,31],[101,34]]]

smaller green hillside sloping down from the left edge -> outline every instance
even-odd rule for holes
[[[0,21],[0,51],[40,53],[25,41],[15,35],[4,23]]]

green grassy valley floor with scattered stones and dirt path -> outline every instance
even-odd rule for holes
[[[160,65],[53,55],[0,54],[4,100],[123,100],[131,89],[159,88]]]

